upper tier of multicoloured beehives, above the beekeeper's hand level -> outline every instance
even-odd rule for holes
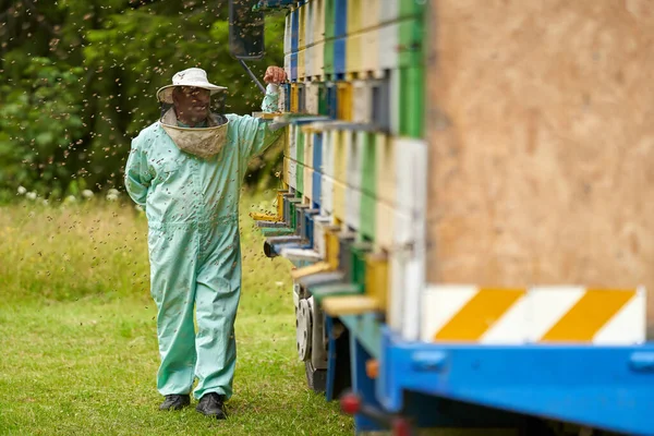
[[[310,0],[286,19],[281,111],[423,136],[422,0]],[[401,108],[401,109],[400,109]]]

